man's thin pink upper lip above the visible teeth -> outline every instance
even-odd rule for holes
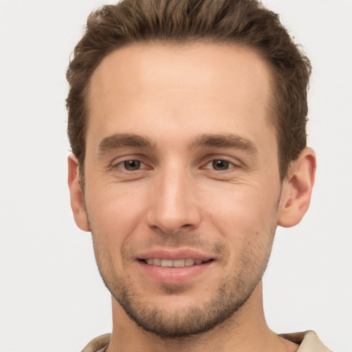
[[[192,249],[153,249],[147,250],[140,254],[137,254],[137,259],[148,259],[148,258],[157,258],[157,259],[169,259],[172,261],[177,261],[178,259],[201,259],[202,261],[209,261],[214,259],[212,256],[208,256],[200,252],[199,250]]]

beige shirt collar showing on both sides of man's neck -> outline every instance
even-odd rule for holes
[[[110,341],[111,334],[99,336],[91,340],[89,344],[82,350],[82,352],[105,352]],[[319,340],[318,335],[314,331],[305,331],[302,333],[283,333],[282,338],[296,342],[299,344],[296,352],[332,352],[324,346]]]

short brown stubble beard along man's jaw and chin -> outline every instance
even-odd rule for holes
[[[275,228],[272,231],[274,236]],[[243,252],[239,265],[241,269],[234,270],[218,282],[217,289],[208,300],[198,305],[175,309],[170,313],[170,309],[148,302],[143,292],[131,287],[131,278],[126,274],[127,271],[122,269],[121,274],[118,274],[113,270],[113,262],[107,260],[106,253],[99,250],[98,245],[94,243],[100,275],[113,298],[139,327],[170,339],[186,338],[210,331],[239,311],[261,281],[271,248],[272,242],[267,243],[267,248],[262,250],[260,255],[253,249]],[[175,290],[164,285],[165,294],[168,291],[171,304]]]

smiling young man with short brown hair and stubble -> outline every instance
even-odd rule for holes
[[[265,322],[277,225],[303,218],[310,64],[257,1],[127,0],[69,65],[69,189],[111,292],[84,351],[329,351]]]

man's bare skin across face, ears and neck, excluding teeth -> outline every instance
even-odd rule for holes
[[[271,98],[266,63],[234,45],[134,44],[97,67],[85,197],[74,155],[69,188],[113,296],[108,351],[298,348],[267,327],[261,278],[276,226],[307,211],[316,159],[305,148],[281,182]]]

